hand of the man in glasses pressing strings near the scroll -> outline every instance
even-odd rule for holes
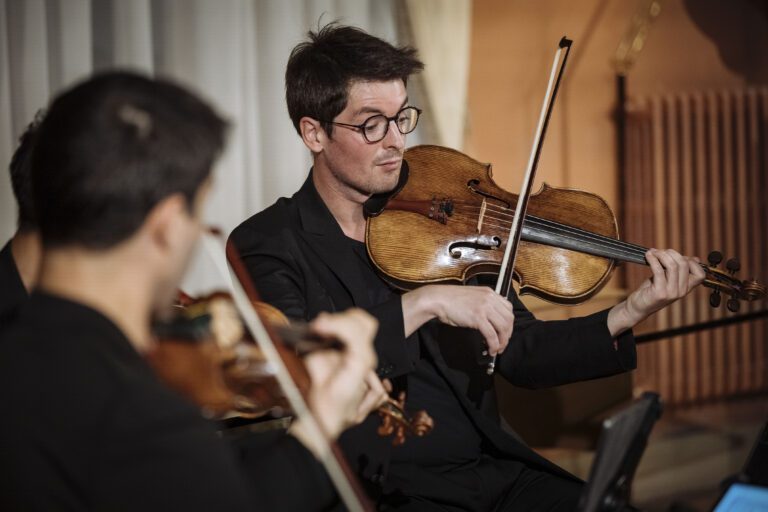
[[[650,249],[645,259],[653,276],[646,279],[627,299],[611,309],[608,329],[618,336],[653,313],[685,297],[705,278],[698,258],[683,256],[673,249]]]

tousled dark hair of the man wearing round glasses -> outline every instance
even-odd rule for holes
[[[288,113],[296,131],[299,120],[311,117],[331,121],[347,106],[354,82],[386,82],[408,77],[424,68],[416,50],[395,47],[355,27],[330,23],[307,34],[309,41],[296,46],[285,70]],[[324,122],[331,136],[333,125]]]

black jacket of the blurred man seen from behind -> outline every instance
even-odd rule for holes
[[[98,312],[32,294],[0,337],[1,510],[324,510],[291,436],[218,439]],[[263,442],[262,442],[263,441]]]

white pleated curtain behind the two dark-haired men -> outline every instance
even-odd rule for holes
[[[285,107],[293,46],[336,19],[398,43],[396,11],[396,0],[0,0],[0,162],[7,169],[18,136],[53,94],[93,71],[167,76],[232,123],[206,211],[228,233],[296,191],[309,169]],[[0,241],[15,224],[0,172]],[[197,261],[186,288],[207,288],[211,273]]]

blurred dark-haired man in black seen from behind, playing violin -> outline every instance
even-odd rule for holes
[[[151,318],[169,307],[201,231],[226,123],[183,88],[107,73],[64,92],[36,134],[36,288],[0,339],[0,509],[323,510],[330,447],[298,420],[234,446],[152,372]],[[364,379],[375,320],[313,328],[308,403],[329,438],[381,396]],[[361,407],[365,410],[360,410]]]

